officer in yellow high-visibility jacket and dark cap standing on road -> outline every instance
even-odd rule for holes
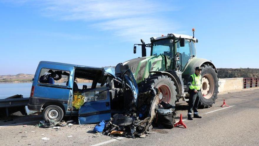
[[[192,109],[193,117],[201,118],[198,114],[197,108],[200,100],[200,89],[201,89],[201,67],[195,68],[195,73],[190,76],[188,86],[189,86],[189,107],[188,107],[188,120],[192,120]]]

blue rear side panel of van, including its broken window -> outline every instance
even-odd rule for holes
[[[49,63],[41,63],[40,67],[33,82],[34,96],[31,99],[35,101],[34,104],[57,103],[67,106],[68,99],[72,96],[71,81],[74,68]]]

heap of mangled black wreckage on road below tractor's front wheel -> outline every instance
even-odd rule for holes
[[[154,91],[140,93],[138,96],[137,110],[131,109],[124,114],[114,114],[106,124],[103,133],[106,135],[119,134],[123,137],[141,137],[152,129],[152,121],[156,115],[159,94]]]

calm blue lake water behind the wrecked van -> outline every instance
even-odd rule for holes
[[[60,83],[62,84],[62,83]],[[32,83],[0,83],[0,99],[4,99],[16,94],[21,94],[23,97],[29,97],[31,93]],[[82,89],[83,85],[89,88],[92,83],[82,82],[77,83],[78,88]]]

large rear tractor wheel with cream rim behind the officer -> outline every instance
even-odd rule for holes
[[[218,74],[212,65],[201,66],[201,92],[200,92],[200,107],[207,108],[215,103],[218,98]]]

